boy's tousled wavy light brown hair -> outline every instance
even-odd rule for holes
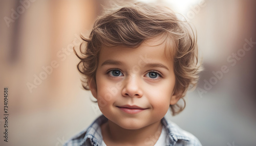
[[[84,77],[83,88],[89,89],[88,81],[96,80],[99,53],[102,46],[123,45],[138,47],[150,38],[164,35],[165,41],[172,39],[172,53],[174,59],[174,72],[176,77],[174,91],[183,97],[189,87],[195,87],[198,81],[200,64],[198,63],[198,47],[196,35],[186,20],[179,20],[169,8],[161,5],[144,3],[129,4],[125,7],[115,7],[106,10],[99,16],[93,26],[89,38],[81,36],[84,40],[80,45],[82,57],[77,64],[78,70]],[[168,44],[167,41],[166,44]],[[169,43],[170,44],[170,43]],[[173,115],[185,108],[184,105],[170,105]]]

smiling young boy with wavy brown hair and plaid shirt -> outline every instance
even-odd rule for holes
[[[197,44],[187,22],[163,6],[136,3],[99,17],[77,65],[102,114],[65,145],[201,145],[167,121],[198,79]],[[184,100],[183,100],[184,101]]]

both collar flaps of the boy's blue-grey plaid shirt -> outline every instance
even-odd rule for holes
[[[86,143],[91,143],[92,145],[101,145],[102,135],[100,126],[108,121],[104,115],[99,116],[86,130],[86,135],[82,140],[81,145]],[[186,131],[182,130],[176,124],[170,120],[166,120],[165,117],[161,119],[163,128],[166,130],[166,134],[169,136],[169,143],[174,145],[178,140],[190,141],[189,136],[186,134]]]

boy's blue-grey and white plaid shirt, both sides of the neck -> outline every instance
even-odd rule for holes
[[[89,128],[71,138],[64,144],[64,146],[100,146],[103,141],[100,125],[106,121],[108,121],[108,119],[104,115],[101,115],[91,124],[91,126],[89,126]],[[161,123],[168,135],[168,138],[166,138],[166,143],[168,144],[166,145],[202,145],[194,135],[182,130],[176,124],[172,123],[172,121],[167,121],[165,118],[162,118]]]

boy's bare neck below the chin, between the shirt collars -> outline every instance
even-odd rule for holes
[[[124,129],[111,120],[102,125],[102,136],[106,145],[154,145],[162,131],[161,121],[140,129]]]

